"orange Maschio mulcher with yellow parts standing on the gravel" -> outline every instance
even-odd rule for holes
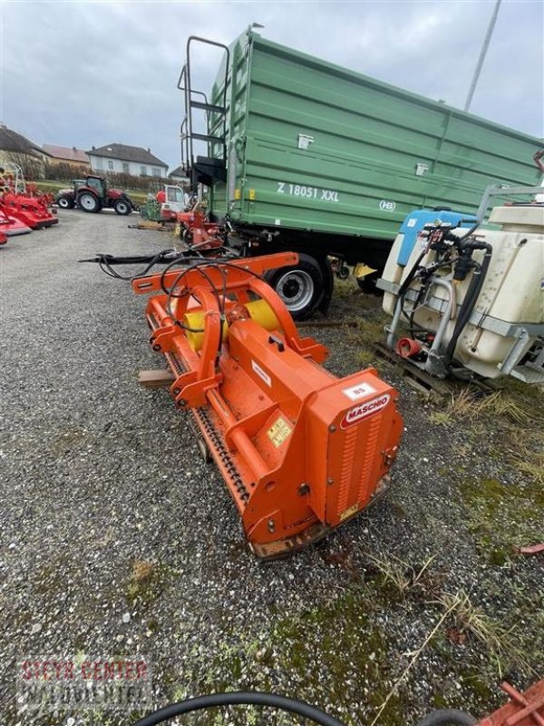
[[[259,557],[315,542],[384,494],[403,419],[374,368],[335,378],[260,275],[293,252],[199,259],[132,280],[149,300],[151,346],[175,377]]]

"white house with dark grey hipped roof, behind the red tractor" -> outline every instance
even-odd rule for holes
[[[93,146],[87,152],[92,171],[97,173],[117,172],[132,176],[166,177],[168,164],[161,162],[151,149],[129,146],[126,143],[109,143]]]

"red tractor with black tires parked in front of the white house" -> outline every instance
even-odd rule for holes
[[[117,214],[130,214],[136,206],[124,191],[109,189],[102,176],[92,174],[85,179],[74,179],[73,189],[61,189],[56,203],[63,210],[79,207],[83,211],[102,211],[113,209]]]

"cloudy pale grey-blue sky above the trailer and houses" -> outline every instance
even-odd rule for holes
[[[180,162],[189,34],[269,40],[463,106],[494,0],[0,0],[0,122],[38,144],[111,142]],[[544,135],[543,0],[502,0],[471,112]],[[209,86],[218,58],[200,59]]]

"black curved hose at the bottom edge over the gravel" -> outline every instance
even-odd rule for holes
[[[274,693],[262,693],[252,691],[239,691],[232,693],[212,693],[208,696],[198,696],[187,701],[172,703],[160,711],[155,711],[149,716],[144,716],[140,721],[136,721],[134,726],[156,726],[158,723],[164,723],[173,719],[175,716],[182,716],[185,713],[193,711],[202,711],[218,706],[238,706],[238,705],[254,705],[268,706],[278,709],[279,711],[288,711],[303,716],[320,726],[345,726],[345,723],[338,721],[332,716],[328,716],[324,711],[317,709],[316,706],[310,706],[304,701],[296,701],[286,696],[277,696]]]

